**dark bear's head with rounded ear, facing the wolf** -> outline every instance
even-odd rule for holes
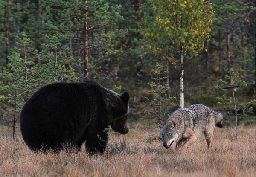
[[[130,99],[129,93],[124,92],[121,96],[118,96],[118,102],[116,102],[115,109],[111,110],[110,125],[111,128],[121,134],[126,134],[129,131],[127,125],[127,119],[129,114],[128,101]]]

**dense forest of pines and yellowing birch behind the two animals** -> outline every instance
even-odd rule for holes
[[[255,123],[255,0],[0,0],[0,9],[2,125],[18,127],[43,85],[84,78],[128,91],[131,121],[163,119],[181,90],[185,107],[233,117],[233,105],[216,99],[231,94],[216,89],[231,68],[247,83],[237,104],[254,111],[239,119]]]

